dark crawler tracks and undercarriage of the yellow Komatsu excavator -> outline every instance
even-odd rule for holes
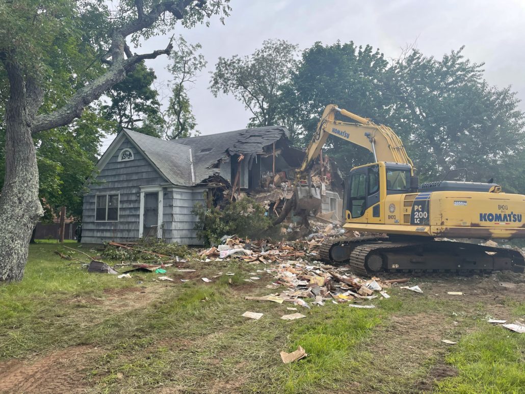
[[[327,240],[320,257],[329,264],[348,265],[362,276],[456,276],[525,268],[523,256],[506,248],[453,241],[392,242],[388,237]]]

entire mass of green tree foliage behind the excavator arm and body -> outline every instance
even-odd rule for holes
[[[316,43],[282,87],[281,110],[296,119],[299,146],[333,103],[390,126],[423,182],[466,168],[469,181],[493,177],[509,192],[525,192],[525,114],[516,93],[490,86],[482,64],[470,63],[462,51],[442,59],[406,51],[389,65],[370,45]],[[345,173],[373,161],[368,150],[339,138],[329,138],[324,149]]]

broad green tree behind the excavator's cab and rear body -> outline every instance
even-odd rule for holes
[[[403,136],[423,180],[466,168],[469,180],[507,180],[510,190],[525,191],[519,176],[525,114],[516,93],[490,86],[483,65],[470,63],[462,51],[438,60],[413,50],[393,64],[385,78],[385,95],[394,103],[390,125]]]

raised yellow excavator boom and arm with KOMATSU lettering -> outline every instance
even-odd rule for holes
[[[356,123],[335,120],[335,114],[338,112]],[[312,160],[318,157],[330,134],[369,149],[374,154],[376,162],[403,163],[413,167],[412,160],[403,147],[403,142],[390,127],[376,125],[370,119],[362,118],[330,104],[324,108],[317,130],[308,144],[306,156],[298,169],[299,174],[306,171]]]

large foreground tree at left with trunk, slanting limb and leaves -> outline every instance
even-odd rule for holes
[[[228,0],[121,0],[113,13],[107,4],[103,0],[0,4],[0,61],[9,84],[0,281],[22,279],[31,232],[43,214],[35,134],[69,125],[142,60],[172,49],[170,44],[133,54],[128,39],[137,44],[141,37],[166,33],[177,22],[191,28],[213,15],[227,15],[230,9]],[[56,100],[46,101],[46,96]],[[43,106],[45,102],[50,105]]]

